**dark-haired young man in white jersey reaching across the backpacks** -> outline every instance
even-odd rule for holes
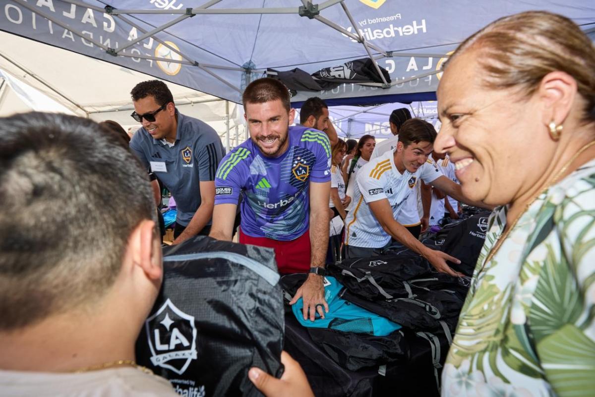
[[[433,150],[435,138],[433,125],[421,119],[411,119],[399,131],[399,141],[393,153],[384,153],[362,167],[356,178],[354,207],[346,219],[347,258],[380,255],[392,237],[427,258],[439,272],[458,275],[446,264],[446,260],[459,263],[458,259],[425,247],[395,220],[420,178],[458,200],[484,206],[466,200],[461,187],[444,177],[436,167],[430,172],[422,168]]]

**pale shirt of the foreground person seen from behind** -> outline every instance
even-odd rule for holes
[[[0,371],[0,395],[52,397],[175,397],[170,382],[134,367],[79,373]]]

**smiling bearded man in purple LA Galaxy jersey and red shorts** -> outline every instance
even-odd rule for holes
[[[322,131],[289,127],[289,91],[272,78],[243,94],[250,139],[221,160],[215,175],[211,237],[231,240],[242,196],[240,242],[275,250],[280,273],[309,272],[292,304],[303,297],[303,317],[324,317],[331,147]],[[311,222],[311,220],[313,222]]]

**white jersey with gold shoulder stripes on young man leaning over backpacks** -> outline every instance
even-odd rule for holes
[[[415,173],[405,170],[401,174],[394,165],[392,152],[370,160],[356,178],[352,200],[355,207],[347,214],[345,221],[345,244],[365,248],[384,247],[390,235],[380,226],[368,203],[386,198],[393,207],[396,219],[419,179],[430,183],[441,175],[435,166],[421,166]]]

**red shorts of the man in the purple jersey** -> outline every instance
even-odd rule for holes
[[[252,237],[240,228],[240,243],[274,248],[279,273],[307,273],[310,270],[310,231],[295,240],[278,241],[267,237]]]

